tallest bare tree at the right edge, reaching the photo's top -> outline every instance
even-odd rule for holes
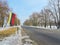
[[[49,8],[57,24],[60,21],[60,0],[49,0]]]

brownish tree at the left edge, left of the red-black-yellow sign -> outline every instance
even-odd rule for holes
[[[8,16],[9,7],[7,2],[4,0],[0,0],[0,26],[2,27],[4,24],[4,17]]]

